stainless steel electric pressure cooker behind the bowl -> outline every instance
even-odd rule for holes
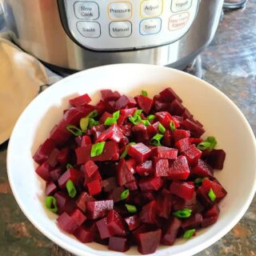
[[[0,6],[12,40],[52,67],[138,62],[182,69],[214,37],[223,0],[0,0]]]

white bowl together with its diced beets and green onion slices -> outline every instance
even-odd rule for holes
[[[14,196],[78,255],[192,255],[255,193],[255,138],[208,83],[160,66],[102,66],[56,83],[14,127]]]

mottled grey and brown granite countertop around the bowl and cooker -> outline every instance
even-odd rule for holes
[[[214,41],[202,53],[203,78],[245,114],[256,134],[256,2],[225,13]],[[19,209],[6,174],[7,142],[0,146],[0,256],[70,255],[32,226]],[[256,199],[240,222],[197,256],[256,256]]]

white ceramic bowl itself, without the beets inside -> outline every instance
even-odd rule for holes
[[[32,155],[62,117],[69,98],[88,93],[96,102],[101,89],[128,95],[144,89],[152,97],[167,86],[177,92],[184,105],[204,124],[205,136],[213,135],[218,148],[226,151],[224,169],[216,171],[216,177],[228,194],[220,203],[216,224],[199,231],[189,241],[181,239],[174,246],[159,246],[155,255],[196,254],[222,238],[242,218],[256,189],[256,143],[242,112],[214,86],[190,74],[161,66],[122,64],[82,71],[57,82],[27,106],[14,127],[7,155],[10,186],[18,205],[42,234],[77,255],[120,254],[96,243],[82,244],[58,229],[56,215],[44,206],[44,184],[34,172]],[[138,251],[134,247],[126,254],[138,255]]]

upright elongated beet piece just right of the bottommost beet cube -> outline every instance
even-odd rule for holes
[[[162,235],[161,243],[166,246],[172,246],[178,237],[178,232],[182,222],[178,218],[172,218],[167,226],[166,232]]]

